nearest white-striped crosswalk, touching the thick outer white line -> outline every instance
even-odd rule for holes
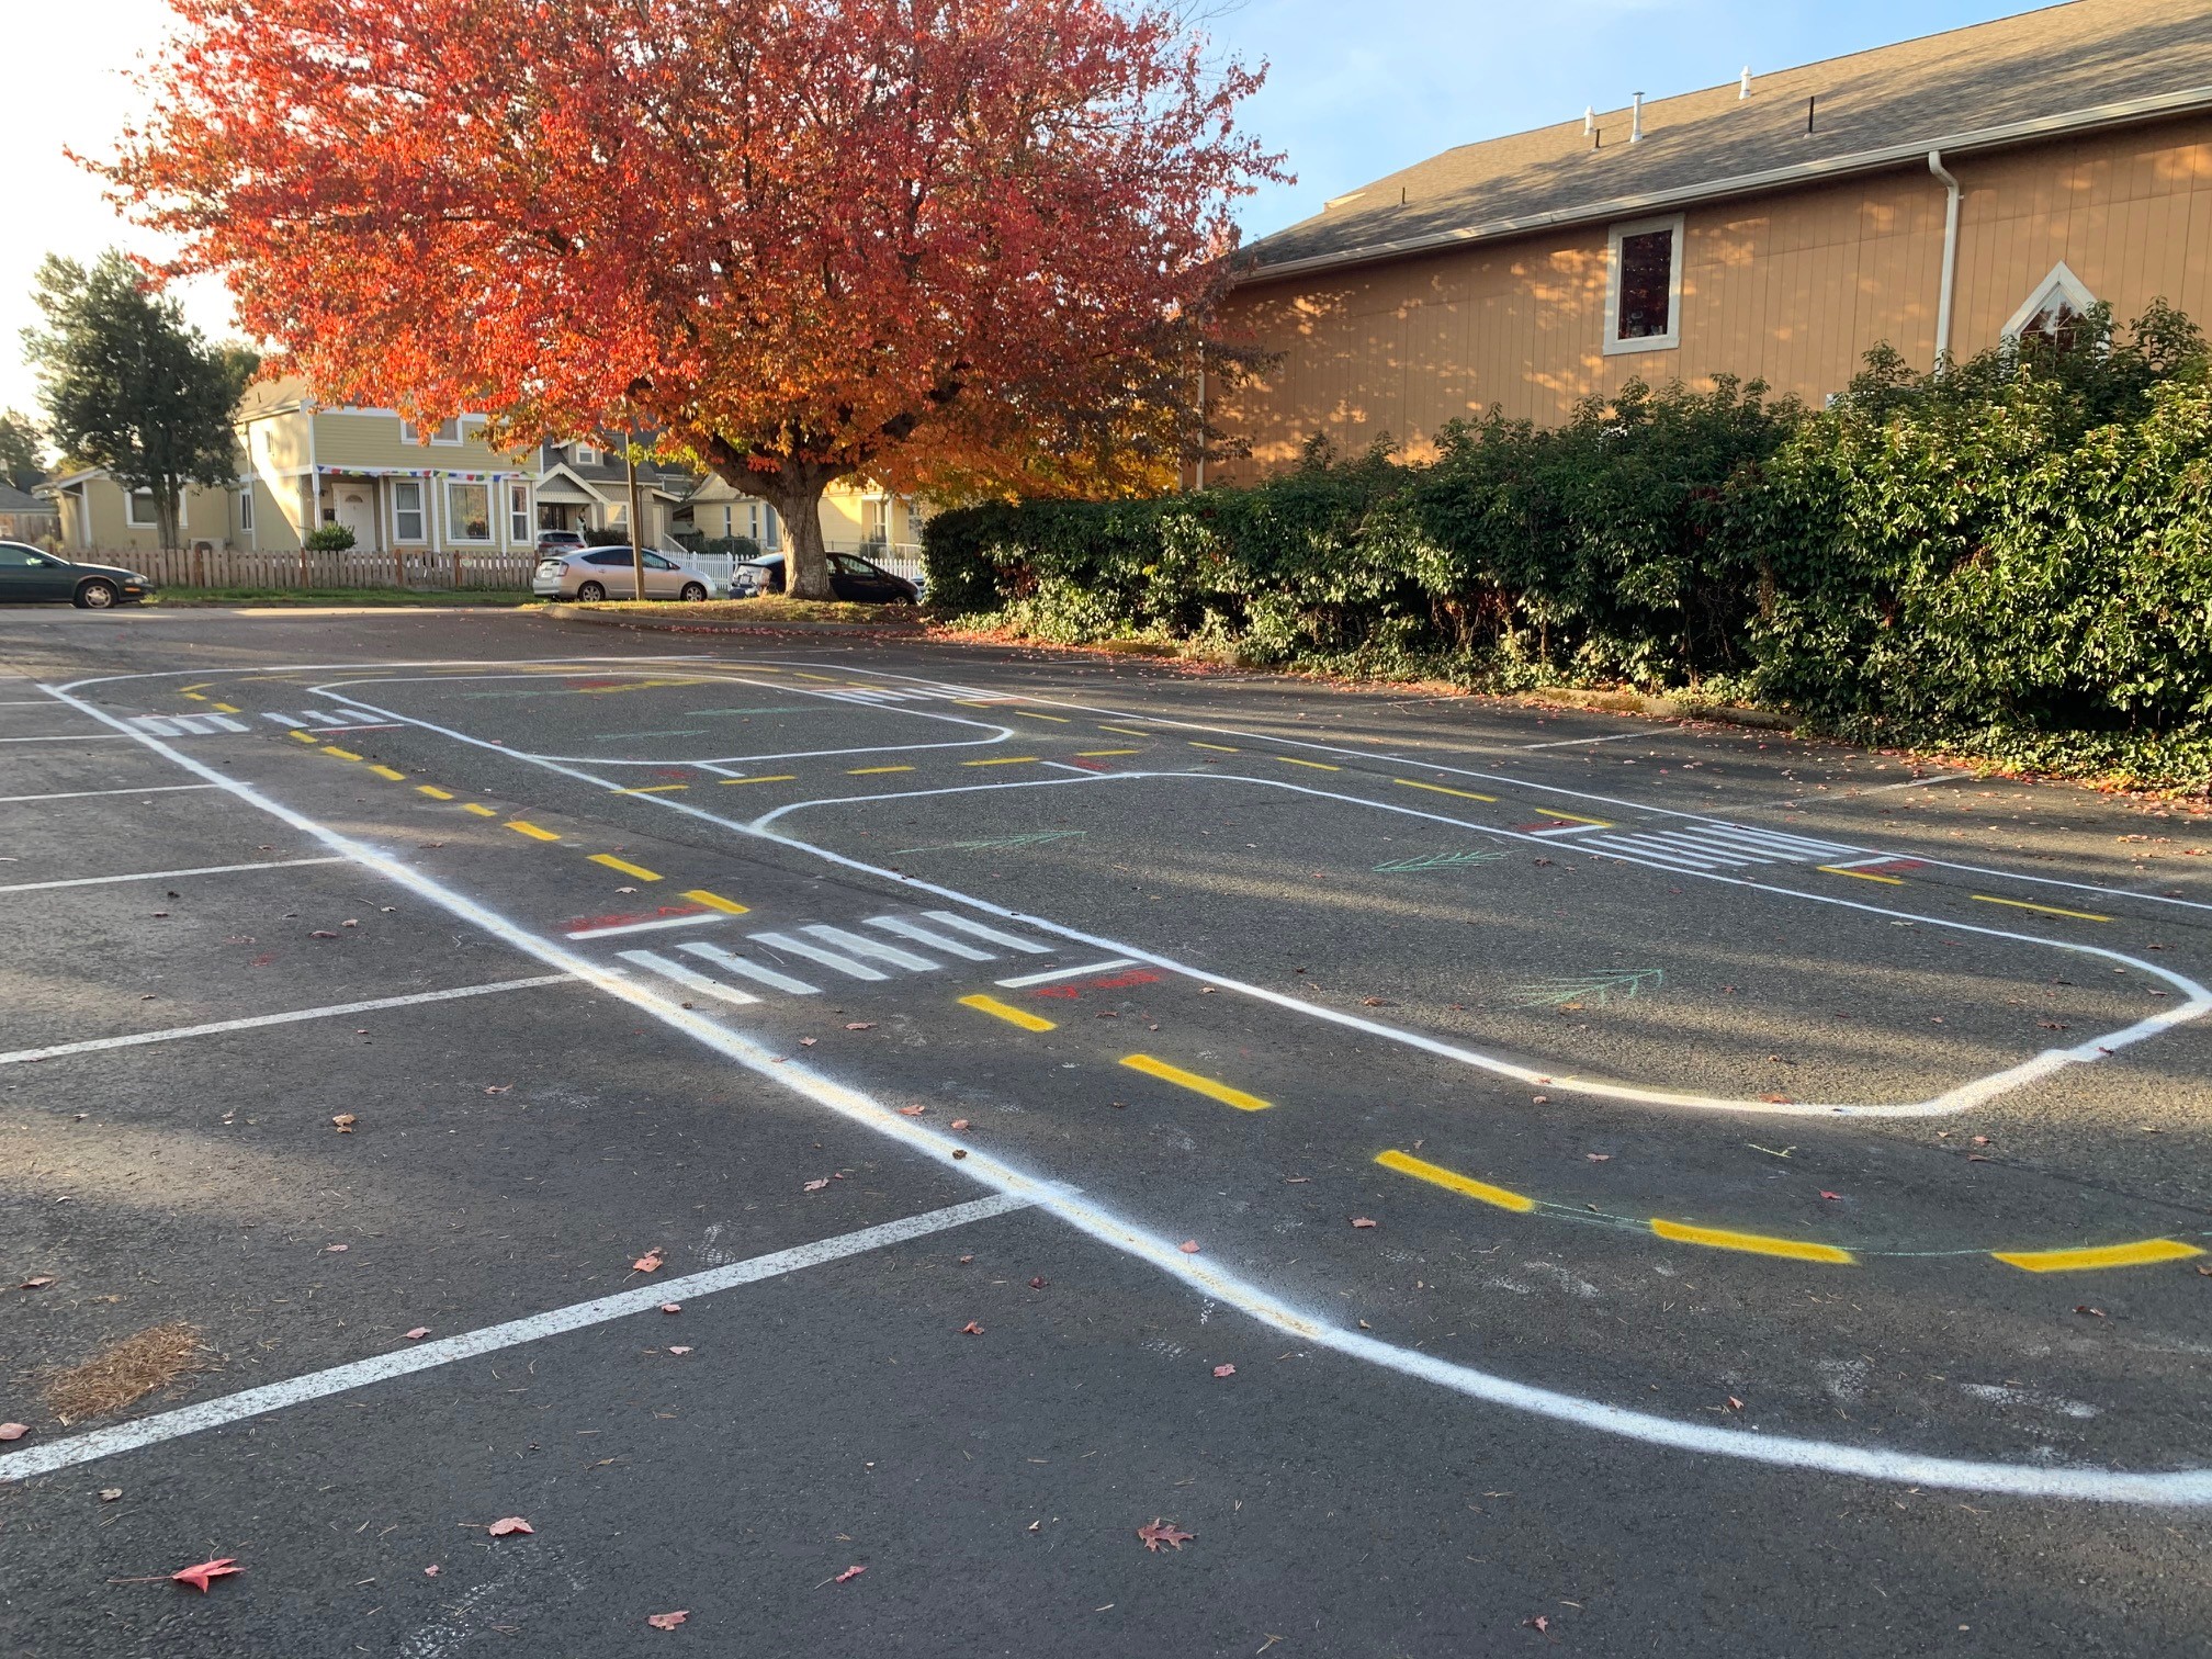
[[[728,918],[701,914],[666,918],[659,925],[681,927],[686,920],[721,922]],[[763,991],[821,995],[823,987],[816,980],[883,984],[902,973],[936,973],[947,967],[940,958],[993,962],[1004,956],[1051,956],[1055,949],[949,909],[931,909],[920,916],[869,916],[858,927],[803,922],[787,929],[765,929],[748,933],[745,947],[737,951],[712,940],[681,940],[672,951],[626,949],[615,951],[615,956],[681,991],[745,1006],[761,1002]],[[927,956],[925,949],[936,951],[936,956]],[[743,980],[743,984],[732,984],[732,980]]]

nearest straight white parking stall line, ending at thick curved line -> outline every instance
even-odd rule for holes
[[[909,1243],[911,1239],[927,1239],[933,1232],[949,1232],[951,1228],[964,1228],[973,1221],[989,1221],[1026,1208],[1029,1199],[993,1192],[987,1199],[953,1203],[945,1210],[925,1210],[922,1214],[911,1214],[900,1221],[885,1221],[883,1225],[860,1228],[858,1232],[841,1232],[834,1239],[818,1239],[816,1243],[794,1245],[790,1250],[772,1250],[765,1256],[732,1261],[723,1267],[684,1274],[681,1279],[659,1279],[648,1285],[639,1285],[637,1290],[619,1290],[613,1296],[599,1296],[588,1303],[573,1303],[571,1307],[553,1307],[544,1314],[511,1318],[504,1325],[487,1325],[462,1336],[440,1336],[427,1343],[409,1343],[407,1347],[354,1360],[352,1365],[332,1365],[325,1371],[307,1371],[305,1376],[294,1376],[285,1383],[270,1383],[259,1389],[246,1389],[243,1394],[226,1394],[219,1400],[201,1400],[199,1405],[186,1405],[177,1411],[159,1411],[150,1418],[139,1418],[137,1422],[117,1422],[113,1429],[93,1429],[91,1433],[69,1436],[66,1440],[33,1447],[31,1451],[11,1451],[7,1458],[0,1458],[0,1480],[51,1475],[55,1469],[73,1469],[75,1464],[93,1462],[95,1458],[113,1458],[122,1451],[157,1447],[164,1440],[181,1440],[188,1433],[221,1429],[223,1425],[268,1416],[270,1411],[283,1411],[285,1407],[307,1405],[310,1400],[327,1400],[332,1394],[349,1394],[352,1389],[365,1389],[374,1383],[389,1383],[400,1376],[414,1376],[416,1371],[431,1371],[440,1365],[453,1365],[456,1360],[473,1360],[484,1354],[498,1354],[507,1347],[520,1347],[522,1343],[542,1343],[549,1336],[564,1336],[566,1332],[580,1332],[591,1325],[606,1325],[617,1318],[628,1318],[630,1314],[650,1314],[657,1312],[661,1303],[692,1301],[695,1296],[712,1296],[719,1290],[757,1285],[765,1279],[781,1279],[783,1274],[794,1274],[805,1267],[821,1267],[832,1261],[845,1261],[847,1256],[863,1256],[872,1250]]]

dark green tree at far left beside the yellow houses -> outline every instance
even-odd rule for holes
[[[153,491],[161,546],[179,546],[186,487],[237,473],[230,418],[257,356],[210,345],[115,250],[88,268],[49,254],[33,299],[46,325],[24,330],[24,347],[38,365],[49,436],[124,489]]]

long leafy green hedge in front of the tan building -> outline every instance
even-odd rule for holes
[[[2154,305],[1825,411],[1626,387],[1252,489],[945,511],[940,613],[1480,688],[1694,690],[1863,741],[2212,783],[2212,385]]]

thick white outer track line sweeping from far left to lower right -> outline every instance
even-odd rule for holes
[[[42,688],[51,690],[51,688]],[[122,728],[122,721],[106,714],[104,710],[84,703],[66,692],[55,692],[82,712],[100,719],[108,726]],[[1677,1422],[1674,1418],[1661,1418],[1652,1411],[1630,1411],[1626,1407],[1606,1405],[1601,1400],[1588,1400],[1577,1394],[1564,1394],[1559,1389],[1540,1389],[1526,1383],[1513,1383],[1511,1378],[1498,1376],[1493,1371],[1482,1371],[1471,1365],[1460,1365],[1455,1360],[1444,1360],[1433,1354],[1422,1354],[1416,1349],[1405,1349],[1394,1343],[1385,1343],[1378,1336],[1363,1332],[1340,1329],[1327,1325],[1301,1310],[1292,1307],[1287,1301],[1279,1298],[1274,1292],[1239,1276],[1230,1274],[1212,1263],[1199,1261],[1197,1256],[1186,1256],[1168,1239],[1146,1232],[1113,1210],[1093,1203],[1084,1194],[1062,1186],[1060,1181],[1048,1181],[1033,1177],[1013,1164],[993,1157],[987,1150],[969,1148],[940,1135],[933,1128],[922,1128],[916,1119],[900,1117],[896,1110],[885,1106],[856,1088],[825,1077],[823,1073],[805,1066],[799,1060],[783,1062],[770,1055],[759,1044],[748,1037],[726,1031],[723,1026],[706,1020],[703,1015],[681,1009],[672,1002],[661,1002],[659,998],[626,984],[622,978],[608,973],[599,964],[573,956],[560,945],[538,938],[524,931],[515,922],[507,920],[498,911],[453,891],[445,883],[425,876],[422,872],[409,869],[407,865],[376,852],[374,847],[354,841],[352,836],[332,830],[305,814],[294,812],[281,801],[272,801],[254,790],[250,783],[223,776],[210,765],[195,761],[192,757],[170,748],[157,737],[133,732],[122,728],[133,741],[164,754],[175,765],[192,772],[195,776],[228,790],[243,803],[257,807],[259,812],[279,818],[301,834],[314,836],[332,852],[338,852],[365,869],[385,876],[387,880],[420,894],[429,902],[451,911],[465,922],[471,922],[500,942],[533,956],[546,967],[562,973],[571,973],[577,980],[593,984],[606,995],[619,998],[641,1013],[653,1015],[661,1024],[681,1031],[688,1037],[714,1048],[728,1060],[737,1062],[754,1077],[768,1084],[787,1088],[805,1099],[812,1099],[836,1115],[876,1130],[885,1139],[894,1139],[907,1150],[931,1159],[940,1168],[967,1175],[982,1186],[995,1188],[1006,1197],[1026,1199],[1040,1210],[1051,1212],[1060,1221],[1068,1223],[1077,1232],[1097,1239],[1099,1243],[1113,1245],[1137,1261],[1144,1261],[1159,1272],[1172,1276],[1177,1283],[1186,1285],[1199,1296],[1210,1296],[1217,1303],[1234,1307],[1237,1312],[1267,1325],[1272,1329],[1285,1332],[1314,1347],[1327,1347],[1347,1358],[1365,1360],[1369,1365],[1380,1365],[1385,1369],[1398,1371],[1402,1376],[1418,1378],[1422,1383],[1433,1383],[1440,1389],[1467,1396],[1471,1400],[1482,1400],[1486,1405],[1502,1405],[1515,1411],[1526,1411],[1553,1422],[1564,1422],[1575,1429],[1593,1429],[1597,1433],[1610,1433],[1624,1440],[1637,1440],[1650,1447],[1663,1447],[1668,1451],[1694,1451],[1714,1458],[1739,1458],[1745,1462],[1774,1464],[1783,1469],[1807,1469],[1816,1473],[1851,1475],[1858,1480],[1887,1480],[1913,1486],[1942,1486],[1949,1491],[1980,1491],[2006,1498],[2068,1498],[2086,1502],[2106,1504],[2154,1504],[2154,1506],[2205,1506],[2212,1504],[2212,1469],[2166,1469],[2166,1471],[2135,1471],[2135,1469],[2048,1469],[2042,1464],[2015,1464],[2015,1462],[1991,1462],[1978,1458],[1936,1458],[1911,1451],[1889,1451],[1880,1447],[1849,1447],[1834,1440],[1812,1440],[1803,1436],[1770,1436],[1756,1429],[1719,1429],[1703,1422]],[[659,796],[650,796],[659,799]],[[805,845],[805,843],[787,843]],[[1064,931],[1064,929],[1062,929]],[[956,1159],[953,1155],[964,1157]]]

